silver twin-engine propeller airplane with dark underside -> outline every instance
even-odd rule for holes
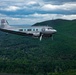
[[[6,33],[12,33],[22,36],[33,36],[39,37],[41,41],[43,37],[52,37],[57,30],[50,26],[30,26],[26,28],[19,28],[15,26],[10,26],[7,20],[1,19],[0,30]]]

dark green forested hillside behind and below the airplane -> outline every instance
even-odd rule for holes
[[[76,74],[76,20],[49,20],[34,25],[48,25],[57,30],[54,40],[0,31],[0,73],[30,75]]]

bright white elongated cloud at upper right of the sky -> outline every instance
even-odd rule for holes
[[[52,4],[45,4],[42,9],[45,11],[52,11],[52,10],[56,10],[56,11],[60,11],[60,10],[75,10],[76,8],[76,3],[65,3],[63,5],[52,5]]]

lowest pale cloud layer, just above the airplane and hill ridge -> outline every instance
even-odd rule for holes
[[[30,15],[22,15],[25,16],[23,18],[19,17],[8,17],[7,15],[0,14],[0,20],[6,19],[10,25],[33,25],[37,22],[42,22],[51,19],[67,19],[73,20],[76,19],[76,15],[63,15],[63,14],[39,14],[34,13]],[[20,16],[20,15],[15,15]]]

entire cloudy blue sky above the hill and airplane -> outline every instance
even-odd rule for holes
[[[0,20],[33,25],[52,19],[76,19],[76,0],[0,0]]]

